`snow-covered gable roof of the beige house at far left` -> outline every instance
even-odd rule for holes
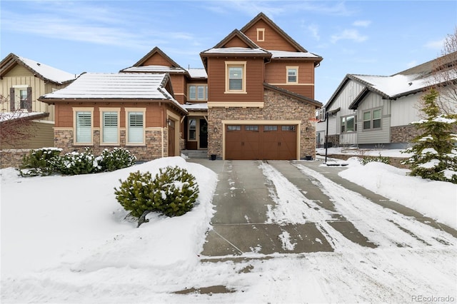
[[[24,66],[24,68],[29,70],[31,74],[34,74],[34,76],[46,82],[56,83],[60,85],[69,83],[76,79],[75,74],[61,71],[59,69],[53,68],[52,66],[41,64],[38,61],[26,59],[13,53],[10,53],[0,62],[0,77],[4,77],[16,65]]]

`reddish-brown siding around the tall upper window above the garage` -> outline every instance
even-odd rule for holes
[[[224,93],[226,90],[226,61],[246,61],[246,92]],[[263,101],[263,59],[208,59],[209,101]]]

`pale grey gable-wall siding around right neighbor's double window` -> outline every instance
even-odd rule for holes
[[[382,109],[381,129],[363,130],[363,112],[376,108]],[[358,105],[357,137],[359,144],[390,143],[391,141],[391,101],[376,93],[368,93]]]

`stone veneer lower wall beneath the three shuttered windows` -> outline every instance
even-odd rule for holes
[[[99,154],[106,149],[113,149],[122,147],[128,149],[138,161],[151,161],[152,159],[162,157],[162,133],[164,136],[164,156],[168,156],[168,131],[164,129],[162,132],[158,128],[146,128],[146,145],[145,146],[126,146],[126,131],[121,130],[121,144],[120,146],[100,146],[100,131],[94,129],[94,145],[93,146],[74,146],[73,144],[73,130],[72,129],[55,129],[54,138],[55,146],[62,148],[62,153],[69,153],[72,151],[84,151],[86,147],[92,149],[94,154]]]

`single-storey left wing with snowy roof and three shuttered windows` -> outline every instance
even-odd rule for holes
[[[56,147],[94,153],[124,147],[139,159],[179,156],[186,109],[173,97],[169,74],[82,74],[39,101],[54,104]]]

